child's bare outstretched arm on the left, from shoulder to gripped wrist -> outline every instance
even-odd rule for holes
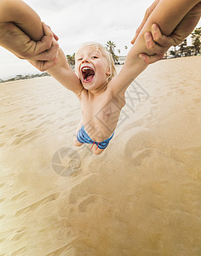
[[[37,67],[37,69],[43,71],[37,61],[30,62],[33,66]],[[61,49],[58,51],[58,61],[56,65],[49,68],[47,72],[59,81],[60,84],[64,85],[68,90],[72,90],[72,92],[80,98],[83,85],[80,83],[78,76],[72,71],[72,68],[66,60],[66,56]]]

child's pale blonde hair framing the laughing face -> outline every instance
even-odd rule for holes
[[[96,49],[99,49],[101,54],[103,54],[106,57],[106,61],[107,61],[107,64],[109,65],[109,69],[110,69],[110,75],[106,79],[106,84],[108,84],[117,75],[117,71],[116,71],[115,64],[114,64],[114,61],[112,58],[112,54],[102,44],[99,44],[96,42],[88,42],[88,43],[82,44],[76,52],[75,59],[77,58],[78,52],[81,49],[83,49],[85,47],[89,47],[89,46],[95,46]]]

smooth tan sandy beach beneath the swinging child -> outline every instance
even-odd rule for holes
[[[100,155],[55,79],[0,84],[0,255],[201,255],[200,66],[148,67]]]

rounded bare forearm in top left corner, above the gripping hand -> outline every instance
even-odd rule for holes
[[[34,41],[43,37],[40,17],[21,0],[0,0],[0,23],[7,22],[14,22]]]

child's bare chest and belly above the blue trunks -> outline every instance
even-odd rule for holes
[[[94,97],[90,97],[88,91],[83,90],[81,98],[83,126],[89,137],[96,142],[110,137],[118,124],[123,106],[124,98],[113,97],[108,90]]]

